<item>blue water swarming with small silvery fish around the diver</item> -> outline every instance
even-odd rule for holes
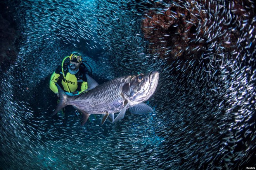
[[[206,8],[207,3],[216,5],[213,1],[175,2],[162,2],[161,8],[175,4],[189,9],[195,4],[208,13],[218,12]],[[202,55],[170,60],[150,53],[143,37],[141,20],[145,10],[154,8],[153,1],[10,0],[6,4],[22,37],[16,62],[7,71],[0,68],[0,169],[256,167],[255,15],[244,16],[248,20],[244,29],[242,24],[222,28],[239,30],[241,45],[235,51],[214,39],[218,28],[212,27]],[[227,7],[225,15],[234,3],[217,4]],[[252,4],[248,1],[244,6],[254,12]],[[248,44],[253,45],[248,48]],[[100,116],[80,126],[71,107],[64,119],[51,117],[56,98],[48,87],[50,75],[74,50],[83,52],[99,83],[159,71],[159,85],[147,102],[154,112],[127,113],[122,121],[103,126]]]

